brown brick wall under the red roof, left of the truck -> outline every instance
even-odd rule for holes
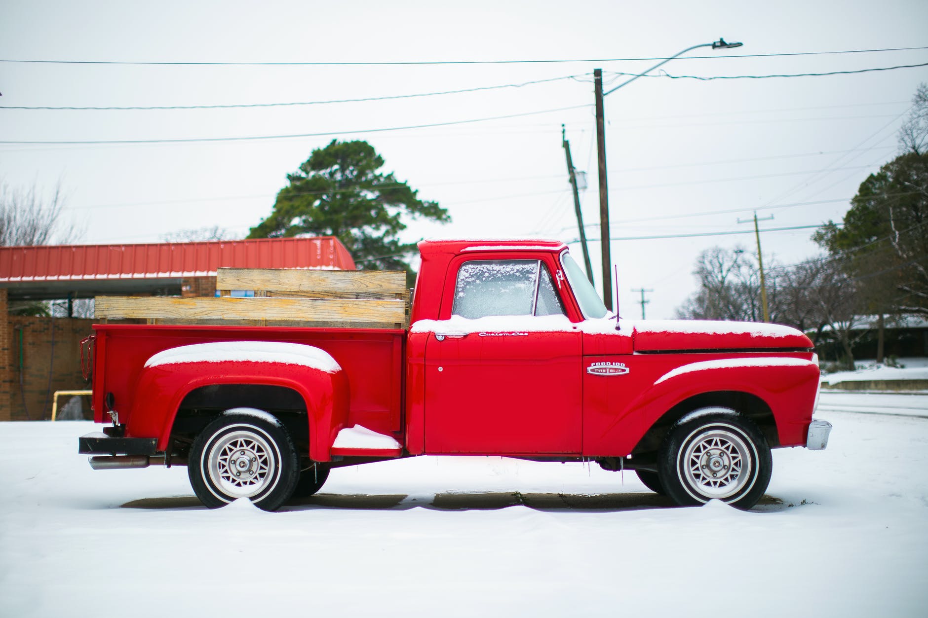
[[[80,341],[94,320],[7,315],[5,304],[0,290],[0,420],[51,418],[55,391],[90,388],[81,375]],[[58,406],[67,401],[59,398]]]

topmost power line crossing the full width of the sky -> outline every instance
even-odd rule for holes
[[[789,52],[780,54],[740,54],[731,56],[688,56],[683,60],[717,58],[785,58],[794,56],[830,56],[837,54],[871,54],[894,51],[918,51],[926,47],[886,47],[882,49],[845,49],[824,52]],[[502,59],[502,60],[391,60],[358,62],[200,62],[200,61],[150,61],[150,60],[35,60],[0,58],[0,62],[24,64],[83,64],[83,65],[126,65],[126,66],[193,66],[193,67],[389,67],[389,66],[432,66],[472,64],[554,64],[566,62],[637,62],[643,60],[669,60],[671,58],[548,58],[548,59]]]

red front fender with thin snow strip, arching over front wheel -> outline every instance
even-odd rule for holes
[[[806,442],[818,389],[818,366],[793,357],[697,361],[675,367],[634,397],[604,428],[601,446],[612,455],[631,453],[669,410],[704,393],[748,393],[773,413],[781,446]],[[606,453],[603,453],[604,455]]]

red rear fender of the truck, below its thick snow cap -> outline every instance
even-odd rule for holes
[[[196,346],[183,346],[168,352],[192,347]],[[158,354],[152,359],[156,357]],[[334,367],[319,368],[273,359],[201,360],[193,355],[187,358],[183,362],[164,364],[151,364],[149,359],[135,388],[127,435],[157,437],[158,450],[163,451],[167,448],[178,408],[188,393],[218,384],[282,386],[303,397],[309,425],[310,457],[316,461],[330,460],[329,448],[347,422],[349,399],[347,377],[334,361]]]

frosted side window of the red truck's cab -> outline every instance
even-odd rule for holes
[[[562,315],[548,268],[538,260],[480,260],[461,264],[451,313]]]

